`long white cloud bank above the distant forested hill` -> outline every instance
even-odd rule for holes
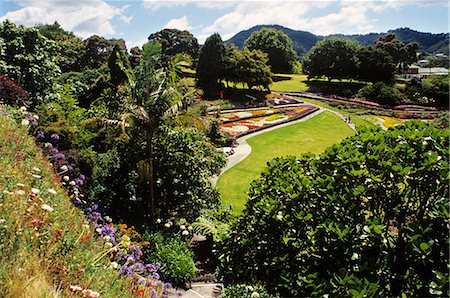
[[[417,1],[422,4],[432,2]],[[319,35],[364,34],[376,30],[375,14],[413,3],[415,1],[412,0],[244,1],[205,27],[199,35],[199,41],[214,32],[219,32],[227,40],[241,30],[261,24],[278,24]],[[320,15],[324,8],[327,9]],[[314,16],[311,16],[312,12]]]

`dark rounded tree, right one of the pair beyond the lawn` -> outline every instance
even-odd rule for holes
[[[357,53],[358,79],[370,82],[391,83],[394,80],[395,64],[384,50],[361,47]]]

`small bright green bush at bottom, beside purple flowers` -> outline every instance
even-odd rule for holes
[[[160,263],[161,280],[184,287],[195,274],[193,254],[178,236],[161,232],[146,232],[144,240],[151,243],[145,252],[147,263]]]

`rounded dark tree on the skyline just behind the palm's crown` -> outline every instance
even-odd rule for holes
[[[178,29],[163,29],[152,33],[149,41],[159,42],[162,46],[161,55],[163,64],[166,64],[176,54],[186,53],[196,61],[198,58],[198,41],[189,31]]]

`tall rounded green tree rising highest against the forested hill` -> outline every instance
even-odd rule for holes
[[[290,73],[296,54],[292,40],[281,30],[261,28],[245,41],[250,50],[261,50],[268,54],[272,72]]]

